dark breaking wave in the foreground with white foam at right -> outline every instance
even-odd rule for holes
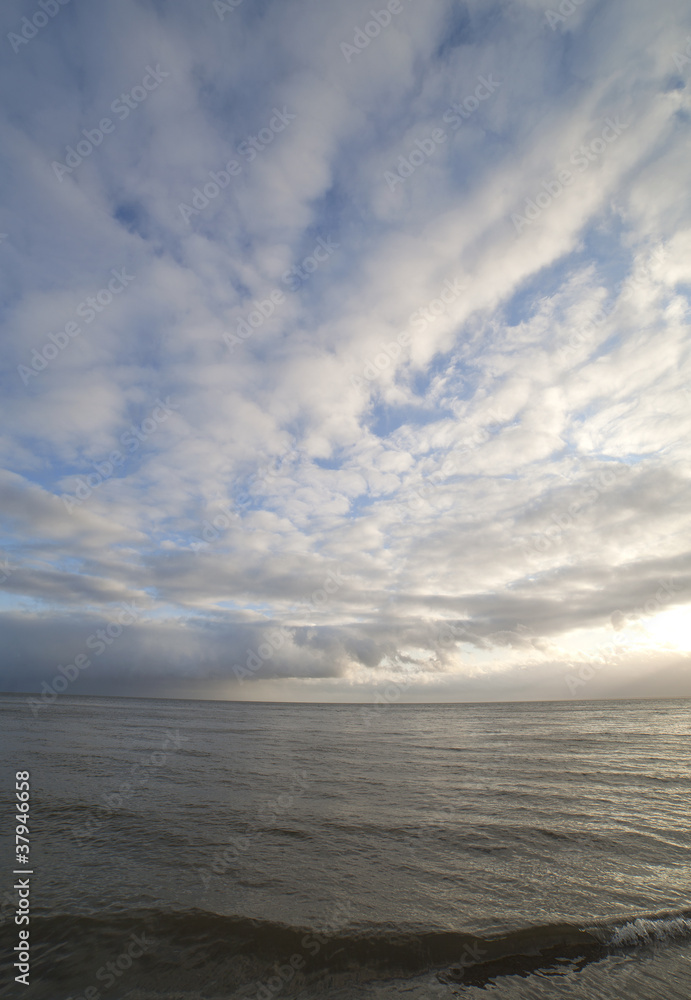
[[[251,984],[275,977],[277,968],[290,970],[293,959],[300,971],[291,975],[288,994],[300,983],[334,974],[362,981],[432,972],[441,982],[477,986],[502,975],[529,975],[565,962],[581,968],[613,952],[691,940],[691,911],[631,914],[591,926],[533,925],[487,936],[395,925],[296,927],[197,909],[37,913],[32,925],[42,942],[37,971],[45,967],[46,983],[67,985],[77,972],[83,980],[85,968],[103,966],[137,934],[149,942],[142,974],[159,985],[180,988],[189,978],[191,987],[203,968],[231,991],[246,993]]]

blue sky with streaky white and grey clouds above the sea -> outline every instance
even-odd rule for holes
[[[691,696],[683,0],[6,0],[0,687]]]

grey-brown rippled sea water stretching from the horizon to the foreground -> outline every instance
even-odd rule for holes
[[[0,996],[688,1000],[690,707],[2,696]]]

